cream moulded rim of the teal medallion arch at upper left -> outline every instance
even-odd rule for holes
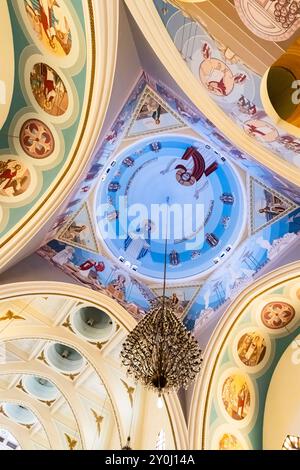
[[[54,216],[86,169],[108,107],[116,64],[118,0],[84,0],[87,18],[87,99],[81,110],[81,134],[60,174],[30,212],[0,239],[0,272],[30,253],[30,241]],[[40,235],[40,242],[45,234]],[[28,245],[28,246],[27,246]],[[26,251],[26,249],[28,251]]]

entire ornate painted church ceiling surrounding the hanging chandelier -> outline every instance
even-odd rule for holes
[[[280,447],[286,421],[270,403],[299,363],[299,271],[239,302],[299,250],[299,135],[261,92],[298,23],[280,2],[125,3],[170,76],[141,60],[117,110],[118,0],[0,6],[0,270],[35,245],[50,277],[71,281],[1,288],[0,449],[114,449],[131,431],[154,447],[164,430],[169,449]],[[207,342],[226,311],[190,440],[178,397],[153,419],[153,396],[120,368],[127,332],[162,295],[166,238],[178,318]]]

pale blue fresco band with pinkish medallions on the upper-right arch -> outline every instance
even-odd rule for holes
[[[264,10],[262,4],[268,3],[245,1],[255,5],[256,11],[257,7]],[[154,4],[185,64],[215,103],[246,134],[279,158],[300,167],[300,140],[276,127],[266,114],[260,97],[261,77],[245,65],[234,51],[227,54],[226,44],[214,40],[203,25],[193,19],[187,20],[183,13],[171,4],[168,4],[165,11],[163,0],[154,0]],[[300,22],[297,16],[300,11],[298,3],[294,0],[279,0],[272,2],[272,5],[274,11],[281,11],[281,16],[276,17],[280,22],[274,17],[274,24],[286,26],[287,18],[297,18],[293,25],[290,25],[290,32],[295,32],[293,28],[298,27]],[[290,27],[283,28],[285,34]]]

